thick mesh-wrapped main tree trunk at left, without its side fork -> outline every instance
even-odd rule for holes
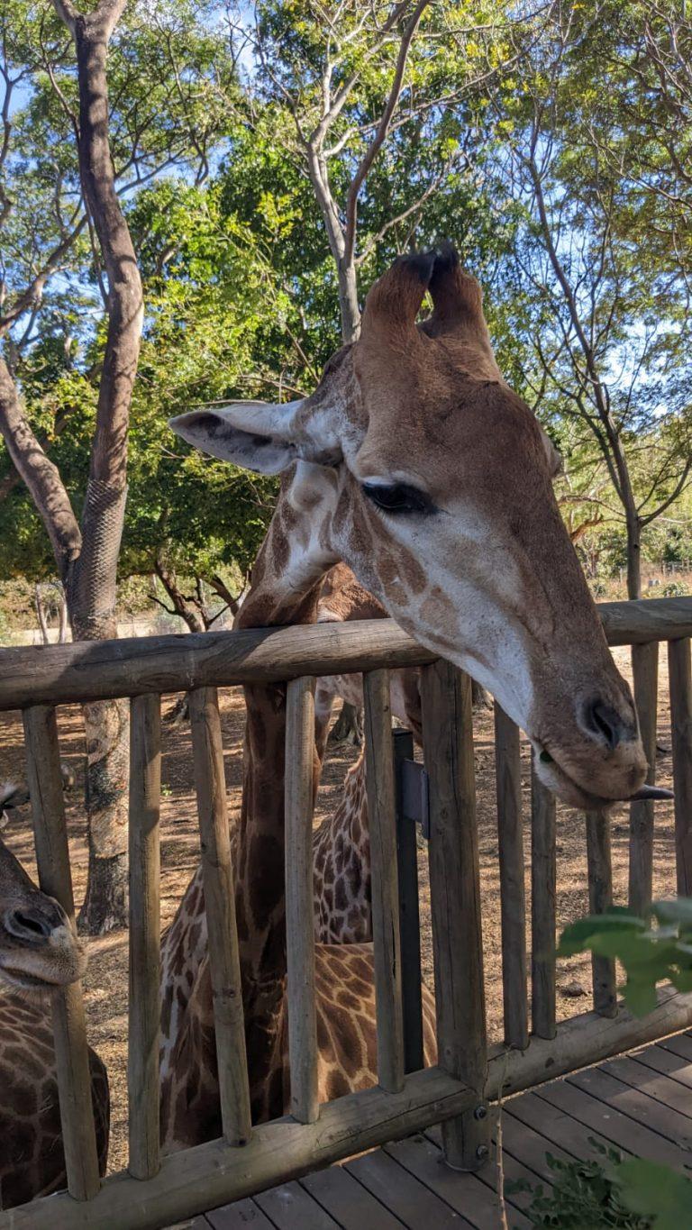
[[[75,640],[117,636],[117,567],[127,501],[128,427],[144,315],[136,255],[116,192],[108,138],[108,41],[125,0],[88,16],[54,0],[76,48],[79,162],[108,280],[108,328],[81,518],[82,547],[65,592]],[[88,888],[79,925],[91,935],[127,924],[129,733],[127,701],[85,705]]]

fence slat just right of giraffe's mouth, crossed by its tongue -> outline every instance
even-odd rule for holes
[[[659,690],[659,643],[632,646],[634,702],[644,755],[649,761],[647,781],[656,777],[656,707]],[[654,878],[654,804],[650,800],[629,806],[629,909],[643,914],[651,902]]]

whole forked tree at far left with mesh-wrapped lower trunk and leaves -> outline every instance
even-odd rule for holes
[[[6,293],[0,319],[6,338],[0,357],[0,432],[50,541],[73,633],[85,640],[116,633],[128,424],[143,321],[141,280],[120,193],[162,167],[191,164],[191,155],[203,176],[210,137],[219,133],[219,103],[205,106],[195,85],[200,64],[208,66],[214,54],[214,41],[206,31],[197,39],[188,37],[193,10],[181,4],[168,15],[162,7],[146,6],[146,12],[135,11],[120,28],[120,41],[113,39],[124,7],[125,0],[101,0],[82,15],[70,0],[55,0],[74,44],[74,64],[64,30],[45,5],[28,15],[23,6],[12,5],[2,17],[2,267],[5,283],[12,278],[20,289]],[[112,43],[117,48],[117,106],[109,117],[106,58]],[[181,74],[176,55],[183,48],[187,64]],[[219,66],[227,79],[227,65],[219,62]],[[15,113],[12,91],[29,80],[28,102]],[[18,192],[20,176],[22,191],[26,180],[26,196]],[[33,352],[49,341],[42,333],[44,309],[55,310],[61,296],[75,301],[85,250],[87,287],[93,279],[91,287],[101,293],[104,323],[92,380],[95,399],[88,402],[93,413],[88,475],[77,518],[64,475],[44,448],[45,435],[34,430],[15,378],[23,391],[22,354],[28,352],[31,368]],[[63,289],[53,305],[47,304],[49,279],[57,272],[64,278],[68,269],[73,295]],[[98,301],[93,292],[85,292],[84,282],[80,290],[93,312]],[[68,421],[69,416],[53,421],[53,438],[66,429]],[[14,474],[6,476],[5,496],[16,481]],[[127,710],[122,702],[104,702],[85,706],[84,716],[90,876],[80,921],[87,930],[101,931],[125,919]]]

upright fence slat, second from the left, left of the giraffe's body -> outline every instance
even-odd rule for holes
[[[129,1171],[151,1178],[160,1166],[159,1021],[161,1015],[160,913],[161,702],[130,702],[129,801]]]

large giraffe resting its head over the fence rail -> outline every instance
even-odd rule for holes
[[[433,312],[417,325],[427,292]],[[368,295],[360,338],[310,397],[209,407],[172,427],[281,474],[237,626],[313,621],[322,578],[343,560],[402,627],[498,697],[556,793],[600,808],[640,792],[632,696],[558,513],[554,450],[503,381],[478,284],[452,250],[395,263]],[[286,1105],[285,688],[247,686],[246,702],[235,904],[251,1101],[267,1118]],[[375,1080],[369,950],[318,946],[317,970],[320,1093],[334,1097]],[[204,1047],[203,1012],[163,1100],[165,1139],[206,1109],[195,1103],[200,1064],[214,1063]]]

